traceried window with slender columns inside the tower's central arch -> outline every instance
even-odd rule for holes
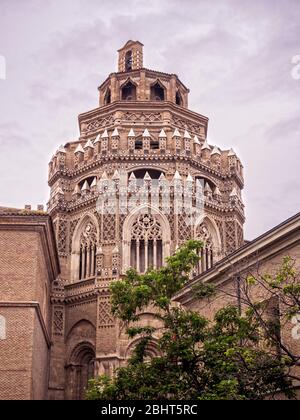
[[[163,264],[162,227],[154,215],[140,214],[132,226],[130,265],[144,273]]]

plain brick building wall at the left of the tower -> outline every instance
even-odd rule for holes
[[[46,399],[48,391],[49,255],[47,261],[41,220],[23,220],[17,227],[13,218],[0,218],[0,315],[6,320],[0,340],[0,400]],[[48,217],[43,221],[46,225]]]

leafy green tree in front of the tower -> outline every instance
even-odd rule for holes
[[[289,397],[285,362],[261,349],[252,313],[236,307],[220,310],[209,322],[200,314],[174,304],[173,297],[188,282],[199,261],[202,243],[189,241],[166,261],[144,275],[130,270],[112,283],[112,312],[128,335],[139,342],[127,366],[114,378],[90,382],[88,399],[261,399],[278,389]],[[195,295],[210,297],[211,286],[200,285]],[[151,307],[159,327],[141,327],[142,311]],[[161,356],[147,359],[156,337]],[[158,338],[157,338],[158,337]]]

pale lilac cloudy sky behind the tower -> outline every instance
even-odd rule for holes
[[[242,159],[246,238],[297,213],[298,0],[0,0],[0,205],[46,203],[48,161],[78,138],[128,39],[146,67],[180,76],[210,142]]]

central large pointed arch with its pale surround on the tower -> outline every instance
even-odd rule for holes
[[[129,267],[145,272],[161,267],[170,255],[169,221],[161,211],[147,204],[137,207],[123,226],[124,271]]]

